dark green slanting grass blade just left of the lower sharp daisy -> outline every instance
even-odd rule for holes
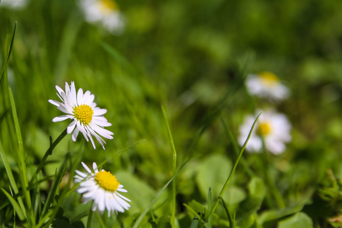
[[[53,204],[53,200],[56,196],[56,190],[60,184],[60,181],[63,178],[64,172],[65,172],[65,168],[66,168],[66,163],[68,160],[69,154],[67,154],[67,156],[65,156],[63,163],[61,164],[61,166],[59,167],[59,170],[57,172],[56,170],[56,175],[55,175],[55,179],[54,179],[54,183],[52,184],[52,187],[50,189],[50,192],[47,195],[43,210],[41,212],[41,216],[44,216],[47,212],[48,209],[50,209],[51,205]],[[41,220],[41,219],[40,219]]]

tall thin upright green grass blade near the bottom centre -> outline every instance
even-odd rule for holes
[[[168,124],[168,120],[167,120],[167,115],[166,115],[166,111],[164,106],[161,106],[161,110],[163,112],[163,116],[164,116],[164,121],[165,121],[165,125],[166,125],[166,130],[167,130],[167,136],[168,136],[168,140],[170,142],[170,147],[172,150],[172,159],[173,159],[173,174],[176,174],[176,167],[177,167],[177,152],[176,152],[176,147],[175,147],[175,143],[174,140],[172,138],[172,134],[171,134],[171,129],[170,126]],[[176,216],[176,181],[173,180],[172,182],[172,227],[175,227],[175,216]]]

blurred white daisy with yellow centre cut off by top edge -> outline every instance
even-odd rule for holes
[[[124,17],[114,0],[80,0],[80,7],[90,24],[102,24],[113,34],[123,32]]]

